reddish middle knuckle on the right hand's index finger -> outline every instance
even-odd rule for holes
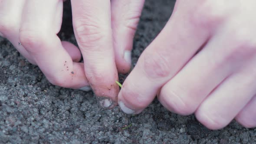
[[[158,51],[154,54],[151,52],[144,53],[143,68],[149,78],[164,78],[169,76],[171,71],[168,56],[161,55]]]

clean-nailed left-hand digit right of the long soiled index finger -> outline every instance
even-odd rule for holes
[[[144,0],[111,0],[113,45],[118,72],[131,69],[133,37],[141,16]]]

